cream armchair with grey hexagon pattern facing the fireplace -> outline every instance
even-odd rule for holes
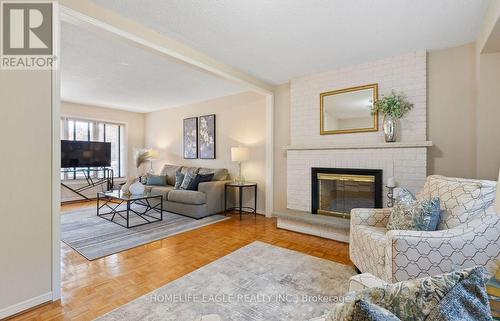
[[[432,232],[388,231],[390,209],[354,209],[351,261],[389,283],[475,265],[491,271],[500,259],[495,190],[493,181],[429,176],[418,197],[441,199],[441,221]]]

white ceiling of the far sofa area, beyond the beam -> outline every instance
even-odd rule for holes
[[[150,112],[248,89],[105,31],[62,22],[61,99]]]

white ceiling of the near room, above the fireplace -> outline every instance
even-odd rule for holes
[[[93,0],[272,84],[474,41],[490,0]]]

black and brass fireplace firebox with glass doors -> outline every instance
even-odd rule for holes
[[[382,207],[382,170],[311,169],[312,213],[350,218],[353,208]]]

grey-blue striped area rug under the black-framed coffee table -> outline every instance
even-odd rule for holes
[[[86,259],[95,260],[227,219],[213,215],[196,220],[163,212],[161,222],[127,229],[97,217],[96,208],[89,207],[61,215],[61,240]]]

